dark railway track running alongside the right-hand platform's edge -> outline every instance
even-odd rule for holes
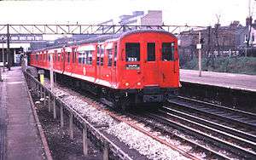
[[[222,125],[218,129],[223,129],[225,132],[236,134],[236,136],[241,136],[244,139],[256,141],[256,114],[184,97],[178,97],[168,102],[172,109],[204,118],[212,123],[218,123]]]

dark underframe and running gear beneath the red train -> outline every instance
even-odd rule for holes
[[[45,71],[49,77],[49,71]],[[175,88],[159,88],[148,86],[144,89],[110,89],[102,85],[86,82],[84,80],[68,77],[55,72],[55,80],[59,83],[69,85],[85,92],[96,95],[104,104],[117,107],[121,110],[129,109],[133,106],[148,106],[165,102],[172,96],[177,95]]]

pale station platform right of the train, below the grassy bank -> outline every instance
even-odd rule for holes
[[[199,71],[181,69],[180,80],[186,83],[207,84],[256,92],[256,76],[245,74],[202,71],[201,77],[199,77]]]

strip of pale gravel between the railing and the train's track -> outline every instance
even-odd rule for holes
[[[46,86],[49,87],[49,83]],[[67,90],[67,91],[65,91]],[[90,123],[98,125],[108,125],[106,132],[117,137],[131,149],[137,150],[140,154],[149,159],[188,159],[183,157],[178,151],[161,144],[159,141],[152,139],[146,134],[139,132],[126,123],[120,123],[110,117],[106,112],[99,111],[91,106],[85,98],[71,89],[62,90],[55,87],[55,94],[64,100],[68,105],[73,106],[73,109],[78,111]]]

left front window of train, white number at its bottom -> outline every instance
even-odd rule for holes
[[[126,61],[140,61],[140,43],[125,43]]]

